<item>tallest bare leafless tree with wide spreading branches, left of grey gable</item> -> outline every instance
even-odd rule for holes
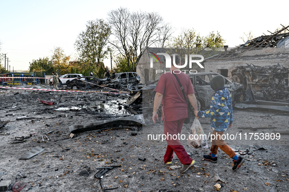
[[[108,13],[108,21],[113,35],[118,40],[117,43],[111,44],[127,59],[129,70],[135,71],[142,51],[159,40],[159,31],[164,27],[162,17],[155,12],[131,13],[129,9],[120,7]],[[133,69],[130,67],[130,62],[133,64]]]

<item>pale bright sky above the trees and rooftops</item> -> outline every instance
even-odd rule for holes
[[[289,25],[289,1],[273,4],[268,0],[0,0],[1,52],[9,58],[11,70],[28,70],[29,62],[50,57],[55,47],[62,47],[75,61],[74,43],[86,22],[106,20],[108,12],[119,7],[158,12],[176,28],[174,36],[183,28],[194,28],[201,36],[219,31],[225,44],[235,47],[243,43],[244,32],[258,37],[280,24]],[[110,66],[110,59],[104,63]]]

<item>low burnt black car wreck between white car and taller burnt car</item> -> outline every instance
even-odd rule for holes
[[[86,76],[78,77],[72,80],[67,80],[66,85],[68,89],[90,89],[97,88],[98,85],[103,85],[105,81],[98,79],[96,77]]]

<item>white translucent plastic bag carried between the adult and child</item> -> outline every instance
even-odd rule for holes
[[[207,136],[201,128],[199,119],[195,118],[188,135],[189,146],[197,148],[208,148]]]

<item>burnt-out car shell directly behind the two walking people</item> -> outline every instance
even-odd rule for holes
[[[201,71],[196,74],[188,74],[192,85],[195,90],[195,96],[197,98],[198,108],[201,110],[207,109],[210,107],[211,98],[214,93],[214,90],[210,86],[211,79],[216,75],[221,75],[216,72],[211,71]],[[231,92],[233,101],[236,100],[235,96],[239,96],[244,90],[242,84],[234,84],[227,78],[225,78],[225,86]],[[144,86],[142,90],[142,101],[145,106],[153,106],[154,98],[156,91],[154,91],[158,80],[151,83],[151,85]],[[237,88],[236,88],[237,87]],[[193,110],[193,107],[191,106]]]

